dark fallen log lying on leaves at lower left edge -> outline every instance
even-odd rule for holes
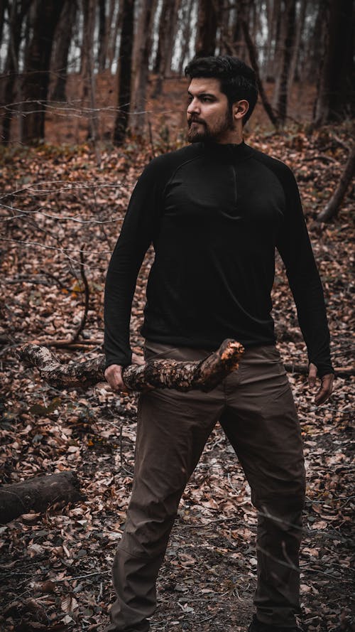
[[[55,503],[77,503],[82,500],[79,481],[74,472],[35,476],[23,483],[0,487],[0,523],[9,523],[31,510],[42,512]]]

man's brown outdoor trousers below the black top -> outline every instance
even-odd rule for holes
[[[146,358],[200,360],[205,350],[146,343]],[[260,621],[295,625],[305,470],[293,396],[274,346],[247,350],[212,392],[153,390],[138,403],[136,465],[124,535],[113,567],[117,599],[107,632],[146,632],[155,582],[182,492],[219,420],[258,509]]]

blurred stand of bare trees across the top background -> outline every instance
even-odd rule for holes
[[[354,115],[352,0],[1,0],[0,137],[45,138],[48,109],[80,104],[99,134],[97,76],[116,91],[112,134],[143,134],[147,87],[182,75],[193,55],[251,63],[276,126],[288,122],[293,85],[317,87],[313,124]],[[68,77],[77,95],[67,95]],[[61,104],[61,105],[60,105]],[[12,124],[12,132],[11,132]]]

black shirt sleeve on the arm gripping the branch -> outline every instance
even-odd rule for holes
[[[109,262],[104,295],[105,368],[131,364],[131,306],[143,257],[153,240],[160,208],[159,178],[152,161],[133,190],[119,239]]]

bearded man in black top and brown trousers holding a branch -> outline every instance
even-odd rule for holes
[[[114,560],[108,632],[146,632],[155,581],[185,485],[222,425],[258,509],[258,585],[252,632],[295,631],[305,475],[300,426],[275,348],[275,247],[288,273],[310,360],[309,382],[332,392],[329,331],[300,197],[290,169],[244,144],[256,104],[253,70],[229,56],[197,58],[190,78],[190,146],[159,156],[133,191],[107,273],[105,377],[125,390],[131,301],[153,242],[142,328],[146,358],[199,360],[224,338],[244,344],[239,370],[208,394],[153,390],[138,405],[136,466]],[[133,362],[139,358],[133,354]]]

